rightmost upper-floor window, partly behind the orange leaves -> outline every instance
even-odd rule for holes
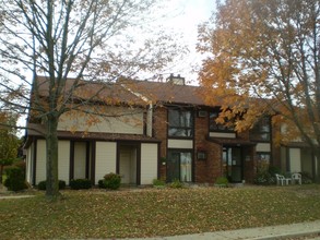
[[[271,119],[261,118],[250,131],[250,139],[254,141],[270,141],[271,139]]]

